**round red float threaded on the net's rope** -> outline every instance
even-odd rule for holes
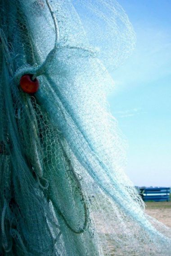
[[[32,78],[32,74],[26,74],[20,78],[20,86],[22,87],[23,91],[28,94],[33,94],[39,89],[39,81],[37,78]]]

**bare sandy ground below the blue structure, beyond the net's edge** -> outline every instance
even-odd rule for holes
[[[171,201],[146,202],[145,212],[171,228]]]

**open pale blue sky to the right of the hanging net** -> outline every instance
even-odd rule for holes
[[[126,173],[138,186],[171,186],[171,0],[118,2],[137,37],[108,98],[129,145]]]

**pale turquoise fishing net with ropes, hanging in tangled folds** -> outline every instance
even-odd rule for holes
[[[0,255],[171,255],[106,102],[134,43],[115,0],[0,0]]]

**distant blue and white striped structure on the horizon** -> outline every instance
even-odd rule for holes
[[[143,201],[169,201],[170,187],[139,187],[139,195]]]

